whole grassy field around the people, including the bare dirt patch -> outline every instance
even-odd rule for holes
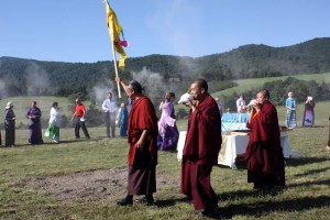
[[[59,102],[65,114],[73,113],[73,103],[66,98],[11,100],[24,123],[24,112],[32,100],[44,109],[45,118],[53,101]],[[0,101],[4,109],[8,100]],[[252,184],[246,183],[242,160],[237,161],[238,169],[216,166],[211,180],[219,210],[209,218],[196,215],[190,201],[179,194],[180,164],[176,152],[158,152],[155,206],[118,207],[116,201],[125,196],[127,139],[106,139],[106,129],[98,127],[88,128],[90,140],[76,140],[70,128],[61,130],[59,144],[44,138],[45,144],[32,146],[28,144],[28,131],[16,130],[16,146],[0,147],[0,219],[329,219],[330,152],[324,150],[329,109],[330,101],[317,102],[316,125],[301,128],[304,106],[298,106],[299,128],[288,135],[290,148],[299,151],[300,157],[286,160],[286,187],[253,190]],[[279,124],[284,125],[284,107],[277,111]],[[184,131],[187,120],[177,124]],[[3,140],[4,132],[1,133]]]

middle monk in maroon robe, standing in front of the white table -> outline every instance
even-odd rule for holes
[[[218,163],[222,143],[221,119],[216,100],[208,94],[208,84],[196,79],[190,85],[191,101],[188,130],[182,161],[182,194],[187,195],[194,208],[209,215],[218,208],[218,198],[211,187],[211,172]]]

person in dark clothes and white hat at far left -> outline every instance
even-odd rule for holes
[[[15,145],[15,113],[13,112],[13,103],[7,102],[4,110],[4,129],[6,129],[6,142],[4,146]],[[0,138],[1,142],[1,138]],[[0,143],[1,144],[1,143]]]

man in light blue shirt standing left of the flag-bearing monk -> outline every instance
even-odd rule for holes
[[[110,138],[110,129],[112,138],[116,138],[116,117],[118,111],[117,102],[112,99],[112,94],[108,92],[108,98],[102,103],[105,111],[105,121],[107,128],[107,138]]]

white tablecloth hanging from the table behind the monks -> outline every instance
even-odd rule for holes
[[[177,158],[183,158],[183,151],[185,146],[187,131],[180,131],[179,140],[177,144]],[[244,155],[249,142],[249,135],[246,133],[234,133],[231,135],[222,135],[222,146],[218,156],[218,164],[229,166],[232,169],[237,169],[235,160],[238,155]],[[280,132],[280,145],[285,158],[290,155],[290,147],[288,142],[287,132]]]

